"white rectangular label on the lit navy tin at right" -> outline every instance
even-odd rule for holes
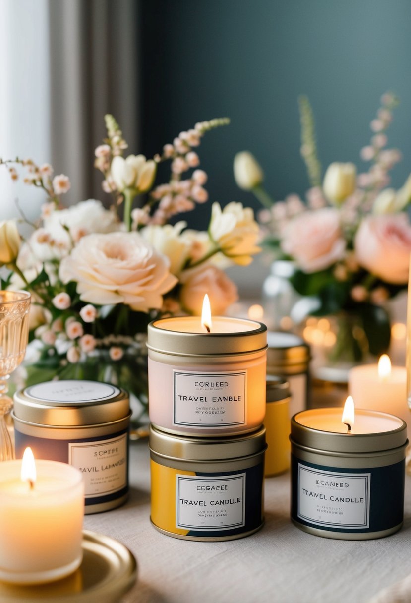
[[[313,469],[298,463],[298,517],[318,526],[369,527],[371,473]]]

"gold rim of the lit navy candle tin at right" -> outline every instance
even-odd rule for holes
[[[291,441],[300,447],[336,454],[383,453],[384,450],[405,446],[407,443],[407,426],[405,421],[386,412],[368,411],[361,408],[356,409],[356,417],[373,417],[377,420],[380,418],[381,420],[385,419],[392,422],[393,429],[370,434],[321,431],[320,429],[315,429],[299,422],[299,419],[300,421],[304,420],[304,416],[315,420],[315,417],[321,417],[324,415],[324,412],[330,417],[340,418],[342,416],[342,408],[316,408],[298,412],[291,419]],[[398,427],[395,428],[395,425],[398,425]]]

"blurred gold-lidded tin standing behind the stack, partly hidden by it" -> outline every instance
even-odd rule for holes
[[[309,405],[309,345],[295,333],[267,333],[267,374],[288,381],[292,399],[290,418]]]

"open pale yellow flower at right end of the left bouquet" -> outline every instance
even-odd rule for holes
[[[256,246],[259,225],[254,220],[254,212],[242,203],[232,201],[224,209],[219,203],[213,203],[209,235],[234,264],[247,266],[253,260],[251,255],[261,251]]]

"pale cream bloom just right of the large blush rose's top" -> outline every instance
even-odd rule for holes
[[[177,222],[174,226],[171,226],[171,224],[165,224],[165,226],[150,224],[139,232],[143,239],[151,243],[157,251],[168,257],[171,274],[180,274],[189,256],[189,241],[181,236],[181,230],[186,226],[187,223],[183,221]]]

